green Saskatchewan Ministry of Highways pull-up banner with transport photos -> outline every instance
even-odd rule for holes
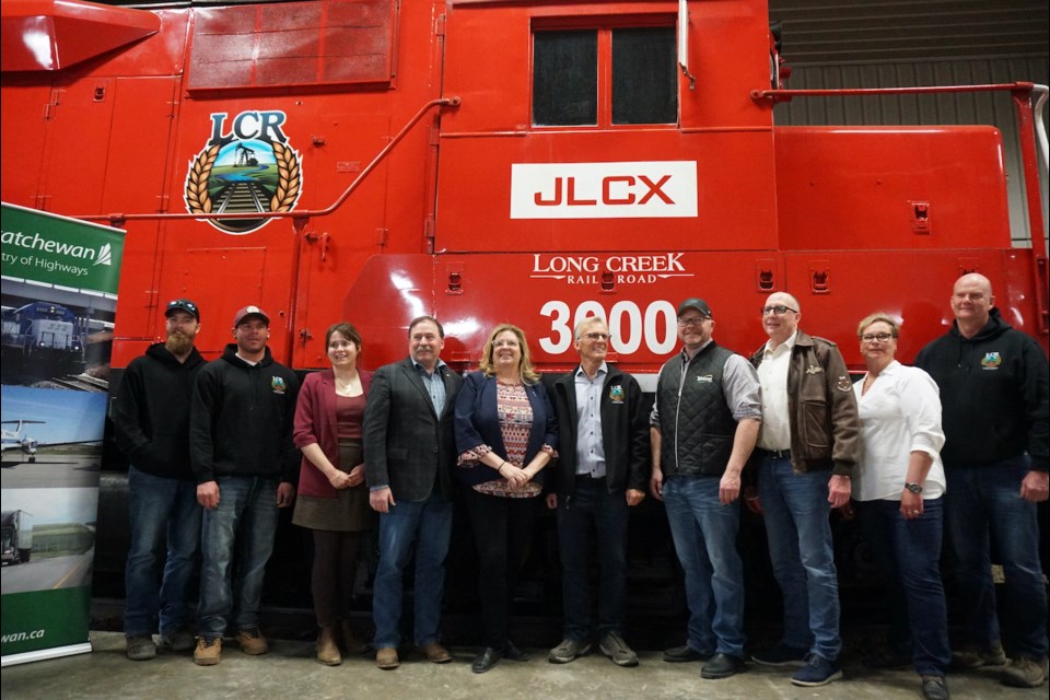
[[[124,232],[2,205],[2,665],[91,651]]]

